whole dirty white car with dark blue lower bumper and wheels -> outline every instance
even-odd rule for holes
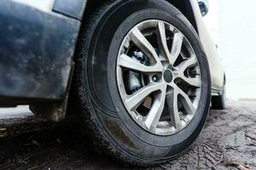
[[[101,153],[151,166],[195,142],[224,109],[207,1],[3,0],[0,105],[77,113]]]

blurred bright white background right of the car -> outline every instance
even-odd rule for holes
[[[218,45],[228,99],[256,100],[256,1],[209,0],[204,20]]]

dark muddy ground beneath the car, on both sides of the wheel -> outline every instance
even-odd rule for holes
[[[76,122],[0,120],[0,169],[137,169],[99,156],[80,134]],[[229,101],[227,110],[211,111],[184,156],[144,169],[256,169],[256,102]]]

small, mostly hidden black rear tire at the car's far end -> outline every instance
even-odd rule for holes
[[[222,94],[218,96],[212,96],[212,109],[213,110],[224,110],[226,108],[226,92],[225,83],[223,86]]]

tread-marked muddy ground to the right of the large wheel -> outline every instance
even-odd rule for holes
[[[256,102],[247,107],[230,101],[227,110],[211,111],[189,152],[161,169],[256,169],[255,108]]]

